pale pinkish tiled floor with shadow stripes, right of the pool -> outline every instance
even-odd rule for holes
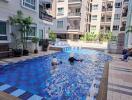
[[[112,55],[107,100],[132,100],[132,60],[121,61],[121,55]]]

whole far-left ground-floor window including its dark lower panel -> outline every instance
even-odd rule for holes
[[[6,22],[0,22],[0,40],[7,40]]]

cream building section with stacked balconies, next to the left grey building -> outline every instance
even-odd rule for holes
[[[56,0],[56,19],[53,30],[61,39],[79,39],[81,30],[82,3],[87,0]],[[86,10],[85,10],[86,11]]]

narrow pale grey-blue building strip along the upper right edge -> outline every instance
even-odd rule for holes
[[[132,48],[132,1],[129,0],[128,4],[128,16],[125,31],[125,47]]]

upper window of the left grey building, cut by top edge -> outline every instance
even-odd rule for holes
[[[30,8],[32,10],[36,9],[36,0],[23,0],[23,6]]]

